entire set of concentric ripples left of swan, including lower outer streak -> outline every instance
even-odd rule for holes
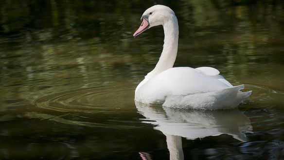
[[[125,119],[136,113],[133,88],[128,85],[100,86],[61,92],[35,100],[25,116],[62,124],[104,128],[132,128]],[[118,123],[119,122],[119,123]]]

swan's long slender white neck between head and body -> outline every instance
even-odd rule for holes
[[[164,45],[163,50],[156,64],[156,67],[145,76],[145,79],[149,80],[152,77],[158,75],[164,70],[172,68],[177,57],[177,44],[178,44],[178,24],[177,17],[172,15],[172,18],[168,19],[164,24]]]

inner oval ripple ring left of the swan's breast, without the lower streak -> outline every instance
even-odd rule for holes
[[[131,94],[132,88],[128,87],[128,85],[120,85],[66,91],[40,97],[35,100],[35,105],[58,112],[96,112],[105,109],[105,106],[112,107],[115,105],[114,101]]]

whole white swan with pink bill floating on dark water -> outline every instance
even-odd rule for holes
[[[244,85],[232,86],[212,67],[174,67],[177,56],[178,24],[173,10],[155,5],[142,15],[142,24],[133,34],[162,25],[164,45],[160,60],[135,90],[135,101],[175,108],[205,110],[236,108],[251,91],[240,92]]]

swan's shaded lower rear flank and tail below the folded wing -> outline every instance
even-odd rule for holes
[[[245,86],[242,84],[210,93],[168,96],[163,106],[203,110],[233,109],[237,108],[240,103],[251,95],[251,91],[240,91],[244,88]]]

